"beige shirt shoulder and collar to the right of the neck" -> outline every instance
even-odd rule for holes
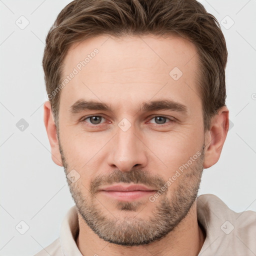
[[[256,252],[255,211],[235,212],[213,194],[198,196],[196,203],[197,219],[206,232],[203,256],[245,256]]]

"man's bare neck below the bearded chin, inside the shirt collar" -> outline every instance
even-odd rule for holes
[[[198,255],[205,232],[197,222],[196,201],[186,217],[160,240],[139,246],[123,246],[109,243],[99,238],[78,213],[79,234],[76,244],[82,255]]]

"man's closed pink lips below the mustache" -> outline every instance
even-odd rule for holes
[[[113,185],[100,189],[100,192],[104,195],[121,201],[132,201],[144,196],[149,196],[156,191],[157,190],[154,188],[148,188],[143,185]]]

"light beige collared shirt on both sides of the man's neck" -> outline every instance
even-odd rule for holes
[[[256,255],[256,212],[234,212],[213,194],[198,196],[196,207],[197,220],[206,232],[199,256]],[[59,237],[34,256],[82,256],[75,242],[78,230],[74,205],[62,220]]]

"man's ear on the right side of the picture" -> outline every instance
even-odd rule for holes
[[[228,113],[226,106],[221,107],[212,117],[210,129],[205,132],[203,168],[212,166],[219,159],[229,127]]]

